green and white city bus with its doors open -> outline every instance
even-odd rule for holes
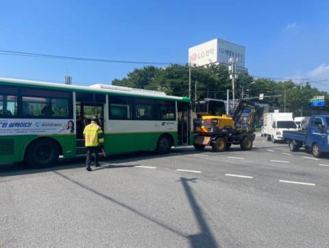
[[[0,78],[0,163],[53,166],[58,157],[86,154],[84,126],[98,115],[106,153],[193,145],[191,100],[107,84]]]

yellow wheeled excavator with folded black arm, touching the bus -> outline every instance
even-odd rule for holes
[[[251,150],[255,139],[254,125],[258,124],[263,115],[264,107],[249,102],[238,100],[230,117],[226,115],[225,103],[220,100],[197,101],[196,115],[193,119],[194,142],[197,150],[212,146],[215,152],[223,152],[233,145],[240,145],[242,150]],[[236,130],[236,124],[245,109],[250,111],[250,120],[246,128]]]

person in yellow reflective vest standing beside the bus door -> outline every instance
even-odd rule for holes
[[[98,124],[97,115],[93,115],[93,117],[91,117],[91,123],[84,128],[84,137],[87,147],[86,170],[90,171],[90,159],[93,150],[95,154],[95,167],[99,167],[98,153],[99,149],[101,149],[104,144],[103,131],[101,131],[101,127]]]

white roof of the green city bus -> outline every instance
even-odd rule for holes
[[[75,86],[71,84],[57,84],[53,82],[40,82],[40,81],[32,81],[32,80],[14,79],[14,78],[0,78],[0,84],[23,86],[23,87],[34,87],[34,88],[42,88],[42,89],[83,91],[90,93],[103,93],[103,94],[105,93],[109,95],[126,95],[126,96],[136,96],[143,98],[167,99],[167,100],[175,100],[182,102],[191,102],[190,98],[170,96],[170,95],[166,95],[164,92],[161,91],[149,91],[145,89],[119,87],[110,84],[94,84],[91,85],[90,87],[86,87],[86,86]]]

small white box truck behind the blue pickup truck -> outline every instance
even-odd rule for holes
[[[283,131],[298,131],[298,126],[293,120],[293,113],[265,113],[264,114],[264,136],[267,141],[284,140]]]

